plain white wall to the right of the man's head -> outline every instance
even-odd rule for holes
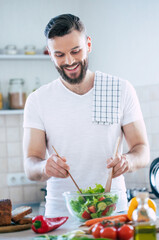
[[[158,83],[159,1],[86,0],[85,5],[82,17],[93,37],[93,69],[135,86]]]

